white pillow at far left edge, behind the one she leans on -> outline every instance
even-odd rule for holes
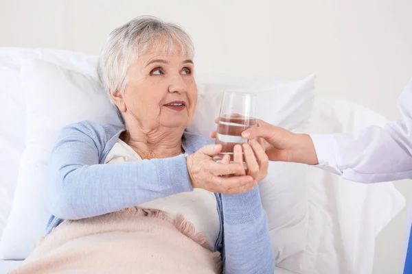
[[[0,238],[7,223],[19,163],[25,148],[25,95],[20,81],[21,62],[38,58],[67,69],[93,74],[97,56],[71,51],[0,48]]]

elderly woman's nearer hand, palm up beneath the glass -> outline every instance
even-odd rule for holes
[[[213,160],[213,156],[221,150],[222,145],[207,145],[187,156],[187,171],[189,171],[193,188],[203,188],[210,192],[225,194],[242,193],[253,189],[258,182],[252,175],[244,174],[243,164],[229,164],[227,159],[223,163]],[[238,176],[227,177],[225,175]]]

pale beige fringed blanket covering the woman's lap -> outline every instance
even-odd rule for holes
[[[220,253],[206,246],[183,216],[128,208],[63,222],[11,273],[220,273]]]

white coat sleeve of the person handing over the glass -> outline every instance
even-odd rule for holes
[[[412,179],[412,80],[398,100],[402,118],[385,127],[311,135],[319,168],[354,182]]]

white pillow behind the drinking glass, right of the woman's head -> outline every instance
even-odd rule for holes
[[[314,75],[291,82],[239,75],[198,75],[198,105],[191,132],[208,137],[216,129],[223,92],[236,90],[257,95],[258,118],[295,132],[306,130],[312,113]],[[270,162],[268,176],[259,183],[268,216],[276,261],[282,262],[306,248],[308,227],[306,166]]]

